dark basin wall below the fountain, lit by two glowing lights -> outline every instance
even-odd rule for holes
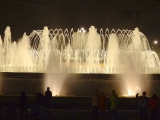
[[[62,74],[50,73],[50,80],[43,73],[1,73],[0,93],[3,95],[20,95],[22,91],[28,95],[34,95],[37,92],[44,93],[46,87],[50,87],[53,96],[91,96],[95,89],[104,92],[106,96],[110,96],[114,89],[118,95],[128,95],[127,84],[123,82],[123,74]],[[63,82],[59,82],[57,78],[65,76]],[[153,93],[160,96],[160,74],[138,74],[141,78],[140,91],[146,91],[148,96]],[[131,76],[133,77],[133,76]],[[56,79],[57,78],[57,79]],[[130,78],[131,79],[131,78]],[[49,83],[48,85],[46,83]],[[145,87],[149,84],[149,87]],[[126,88],[125,88],[126,87]],[[136,87],[136,86],[135,86]],[[61,88],[61,89],[59,89]],[[59,89],[59,92],[55,92]],[[134,96],[136,93],[128,96]]]

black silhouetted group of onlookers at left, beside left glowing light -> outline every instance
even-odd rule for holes
[[[40,116],[46,117],[46,109],[50,106],[50,100],[52,98],[52,92],[50,88],[47,87],[45,95],[42,93],[35,93],[36,101],[30,104],[32,116]],[[25,112],[26,117],[28,117],[27,108],[28,104],[28,97],[26,96],[25,92],[22,92],[19,97],[19,105],[21,109],[21,117],[23,117],[23,113]]]

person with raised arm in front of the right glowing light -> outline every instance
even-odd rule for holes
[[[140,119],[147,120],[148,97],[146,96],[146,92],[143,92],[142,96],[138,95],[136,95],[136,98],[139,99]]]

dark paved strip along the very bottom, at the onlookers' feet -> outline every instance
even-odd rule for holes
[[[93,120],[92,110],[66,110],[66,109],[50,109],[47,111],[46,118],[31,117],[28,110],[28,118],[20,117],[20,109],[16,110],[15,117],[7,118],[6,120]],[[2,113],[2,111],[1,111]],[[158,111],[158,120],[160,120],[160,111]],[[3,120],[1,114],[0,120]],[[105,111],[105,120],[110,120],[110,114]],[[117,120],[140,120],[138,110],[118,110]],[[148,111],[148,120],[150,120],[150,111]]]

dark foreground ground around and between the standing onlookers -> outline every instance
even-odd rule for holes
[[[18,106],[19,96],[1,96],[0,103],[0,120],[93,120],[91,98],[90,97],[53,97],[51,106],[47,110],[47,117],[32,117],[31,106],[28,109],[28,118],[20,117],[20,109]],[[35,96],[28,96],[29,103],[34,103]],[[3,111],[7,107],[6,119],[3,119]],[[160,107],[159,107],[160,108]],[[135,98],[119,98],[117,120],[140,120],[138,110],[138,100]],[[149,109],[149,108],[148,108]],[[110,114],[105,111],[105,120],[110,120]],[[150,110],[148,110],[148,120],[150,120]],[[160,120],[160,110],[158,111],[158,119]]]

